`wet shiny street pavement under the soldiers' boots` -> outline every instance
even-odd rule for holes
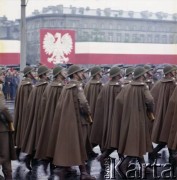
[[[11,114],[14,114],[14,101],[7,101],[7,106],[11,112]],[[96,153],[100,154],[99,147],[95,147],[94,151]],[[23,163],[23,158],[25,154],[20,155],[21,161],[12,161],[12,170],[13,170],[13,179],[14,180],[59,180],[59,176],[57,173],[50,174],[49,167],[47,169],[47,174],[43,171],[42,164],[38,163],[37,166],[35,166],[32,171],[29,171],[25,164]],[[177,176],[176,173],[172,172],[172,168],[170,164],[167,164],[168,162],[168,151],[167,148],[164,148],[161,151],[161,157],[158,159],[157,164],[158,166],[156,169],[153,169],[153,172],[146,175],[137,175],[135,174],[135,171],[132,171],[130,174],[132,177],[128,179],[177,179],[175,176]],[[120,172],[117,172],[117,166],[118,163],[118,155],[117,152],[113,152],[110,156],[111,158],[107,159],[105,161],[105,170],[103,171],[100,163],[97,161],[97,159],[89,160],[86,163],[87,171],[94,176],[98,180],[104,180],[104,179],[124,179],[119,174]],[[148,163],[147,155],[145,156],[145,162]],[[80,179],[80,172],[78,167],[73,167],[77,170],[77,174],[72,177],[66,177],[66,180],[79,180]],[[137,168],[138,169],[138,168]],[[136,171],[141,172],[141,171]],[[135,176],[136,175],[136,176]],[[3,179],[3,174],[0,167],[0,180]]]

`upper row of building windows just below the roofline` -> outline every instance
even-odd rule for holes
[[[110,29],[110,30],[126,30],[126,31],[158,31],[158,32],[177,32],[177,25],[162,24],[162,23],[137,23],[137,22],[123,22],[123,23],[109,23],[96,21],[75,21],[75,20],[46,20],[34,21],[27,23],[27,29],[38,29],[46,27],[65,27],[65,28],[85,28],[85,29]]]

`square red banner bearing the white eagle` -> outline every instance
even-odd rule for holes
[[[75,31],[41,29],[40,62],[50,68],[75,62]]]

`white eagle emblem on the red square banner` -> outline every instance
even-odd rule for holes
[[[51,33],[46,33],[43,41],[43,49],[47,55],[51,55],[48,62],[67,63],[69,55],[73,49],[73,41],[71,36],[66,33],[61,36],[61,33],[56,33],[54,36]]]

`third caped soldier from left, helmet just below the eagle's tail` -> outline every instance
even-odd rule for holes
[[[53,82],[51,82],[46,87],[42,97],[42,107],[44,108],[43,109],[44,117],[41,124],[41,132],[35,154],[36,159],[43,160],[45,172],[48,163],[49,162],[52,163],[53,156],[49,156],[49,154],[51,154],[50,153],[51,151],[54,151],[55,143],[56,143],[54,139],[57,139],[56,137],[57,134],[55,133],[55,131],[51,132],[51,128],[53,124],[55,108],[58,103],[59,97],[61,95],[61,91],[65,85],[64,83],[66,79],[65,69],[61,66],[55,67],[53,69],[53,79],[54,79]]]

